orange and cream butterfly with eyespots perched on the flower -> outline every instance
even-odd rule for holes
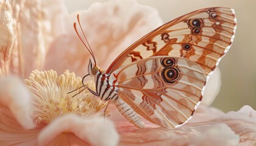
[[[236,30],[233,9],[196,10],[143,36],[104,71],[96,64],[79,15],[77,20],[87,44],[76,23],[74,29],[93,58],[84,78],[90,75],[96,86],[93,91],[82,78],[84,89],[115,104],[138,128],[145,127],[141,117],[165,128],[179,127],[191,119],[208,78],[229,50]]]

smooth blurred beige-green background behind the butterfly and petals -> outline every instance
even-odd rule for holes
[[[93,2],[106,0],[64,0],[69,13],[86,10]],[[237,111],[243,105],[256,109],[256,1],[252,0],[138,0],[158,10],[164,23],[204,7],[230,7],[238,19],[236,36],[228,54],[219,64],[221,89],[212,106]]]

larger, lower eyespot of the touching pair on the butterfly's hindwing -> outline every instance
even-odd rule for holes
[[[166,83],[174,83],[180,77],[180,71],[177,68],[166,68],[162,71],[162,78]]]

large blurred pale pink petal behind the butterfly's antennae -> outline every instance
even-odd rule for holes
[[[87,73],[90,54],[73,29],[77,13],[69,17],[67,34],[52,44],[46,69],[54,68],[57,72],[69,69],[78,75]],[[84,32],[102,69],[107,69],[124,49],[141,36],[162,24],[157,10],[140,5],[135,0],[98,2],[79,13]],[[78,30],[82,36],[80,29]]]

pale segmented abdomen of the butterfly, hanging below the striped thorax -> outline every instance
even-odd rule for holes
[[[115,106],[118,108],[121,114],[123,114],[124,117],[126,117],[129,122],[131,122],[133,125],[135,125],[138,128],[144,128],[146,127],[142,120],[140,119],[140,116],[133,111],[133,109],[124,102],[123,99],[118,98],[115,102]]]

